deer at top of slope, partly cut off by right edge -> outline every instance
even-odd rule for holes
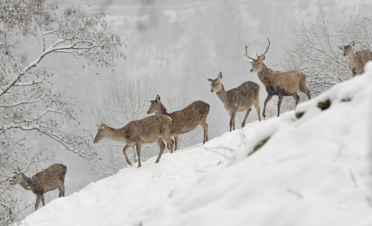
[[[353,77],[362,74],[364,72],[364,65],[372,60],[372,52],[370,50],[360,50],[354,54],[354,46],[355,41],[352,41],[350,45],[337,45],[337,47],[344,51],[344,57],[349,60],[349,69]]]

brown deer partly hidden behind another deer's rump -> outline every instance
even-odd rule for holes
[[[159,94],[156,95],[155,100],[148,100],[151,102],[150,108],[147,114],[164,114],[171,117],[172,122],[170,124],[170,136],[174,137],[174,151],[177,150],[179,144],[179,135],[185,134],[187,132],[193,131],[201,125],[204,132],[203,144],[207,142],[208,139],[208,124],[205,122],[209,113],[209,104],[198,100],[191,103],[189,106],[182,110],[168,113],[167,109],[160,102]]]

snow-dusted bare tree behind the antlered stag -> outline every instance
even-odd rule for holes
[[[276,64],[285,70],[305,72],[311,96],[317,96],[352,78],[349,63],[337,45],[347,45],[354,40],[357,48],[371,49],[372,21],[371,17],[362,17],[356,10],[344,21],[331,21],[320,0],[311,17],[310,22],[302,21],[291,28],[293,46]],[[300,94],[300,97],[305,100],[305,95]],[[283,110],[293,109],[293,106],[294,102],[286,101]]]

